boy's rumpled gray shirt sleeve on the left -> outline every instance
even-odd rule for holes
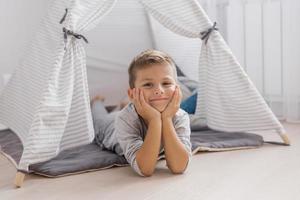
[[[124,116],[123,116],[124,117]],[[123,118],[122,114],[116,118],[115,133],[127,162],[139,175],[144,176],[136,162],[136,152],[142,147],[143,138],[139,133],[138,122],[130,118]]]

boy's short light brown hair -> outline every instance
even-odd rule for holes
[[[128,75],[129,75],[129,86],[131,89],[134,88],[134,82],[136,80],[136,72],[140,69],[147,68],[154,64],[170,65],[173,69],[174,79],[177,81],[177,71],[176,71],[175,63],[171,58],[171,56],[161,51],[149,49],[138,54],[129,65]]]

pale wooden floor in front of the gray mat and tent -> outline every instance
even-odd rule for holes
[[[62,178],[30,175],[16,189],[13,165],[0,155],[0,199],[300,199],[300,125],[284,124],[292,145],[193,156],[188,171],[171,175],[160,161],[150,178],[119,167]]]

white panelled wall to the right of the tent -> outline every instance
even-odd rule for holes
[[[278,118],[299,109],[292,117],[299,120],[300,1],[228,0],[225,9],[227,41],[241,65]]]

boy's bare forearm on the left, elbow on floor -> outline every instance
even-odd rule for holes
[[[161,119],[149,121],[142,147],[136,153],[136,162],[144,176],[151,176],[157,163],[161,144]]]

